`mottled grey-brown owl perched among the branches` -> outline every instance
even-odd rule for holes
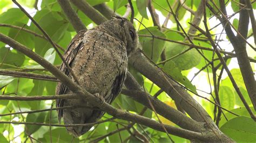
[[[111,104],[120,93],[126,77],[127,57],[138,47],[138,34],[127,19],[116,17],[91,30],[82,30],[72,39],[63,57],[78,78],[78,83],[91,94],[103,97]],[[72,78],[64,63],[60,71]],[[56,95],[71,91],[58,82]],[[90,101],[79,99],[58,99],[57,108],[79,106],[79,108],[58,110],[59,122],[64,124],[94,123],[105,112],[96,110]],[[83,107],[81,107],[83,106]],[[92,126],[66,127],[74,137],[86,133]]]

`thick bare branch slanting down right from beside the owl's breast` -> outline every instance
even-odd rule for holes
[[[164,75],[163,71],[152,65],[142,53],[138,51],[131,53],[129,63],[171,96],[175,102],[183,107],[192,119],[203,122],[205,121],[205,119],[203,119],[205,117],[207,118],[206,120],[213,123],[210,116],[208,116],[208,113],[185,91],[184,88]]]

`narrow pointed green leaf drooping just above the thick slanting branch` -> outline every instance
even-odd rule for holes
[[[181,74],[181,70],[176,66],[173,61],[169,61],[164,65],[164,71],[169,74],[174,80],[183,84],[186,88],[197,93],[196,87],[187,79],[186,76]]]

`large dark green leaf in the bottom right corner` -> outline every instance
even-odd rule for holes
[[[255,142],[256,141],[256,122],[249,117],[233,118],[220,130],[236,142]]]

